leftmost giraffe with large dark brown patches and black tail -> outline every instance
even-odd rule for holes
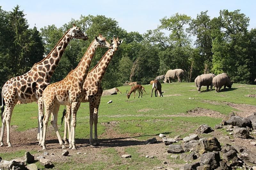
[[[42,118],[43,118],[43,103],[42,93],[47,85],[50,84],[50,79],[56,69],[61,56],[67,47],[70,40],[73,38],[88,40],[87,35],[81,32],[80,28],[73,25],[59,40],[52,51],[40,62],[35,63],[31,70],[27,73],[9,79],[2,88],[2,106],[1,119],[2,130],[0,136],[0,146],[4,146],[4,128],[7,128],[7,144],[12,147],[10,142],[10,122],[12,111],[18,100],[22,103],[31,103],[38,100],[38,133],[37,140],[40,144],[42,139]],[[5,102],[5,110],[4,103]]]

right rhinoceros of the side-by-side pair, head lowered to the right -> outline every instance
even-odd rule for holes
[[[233,85],[233,82],[230,81],[230,77],[226,73],[221,73],[212,79],[212,84],[216,92],[220,92],[220,89],[223,85],[224,85],[224,89],[226,88],[226,86],[228,88],[231,88],[231,86]]]

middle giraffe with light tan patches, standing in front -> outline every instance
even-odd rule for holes
[[[57,126],[57,118],[58,118],[58,111],[60,109],[60,105],[71,105],[71,112],[72,112],[72,149],[76,149],[75,143],[75,128],[76,128],[76,112],[80,106],[81,101],[84,97],[84,90],[83,85],[85,78],[88,74],[90,64],[92,62],[92,57],[95,54],[95,51],[98,47],[102,48],[112,48],[112,46],[106,41],[105,37],[102,37],[99,34],[99,37],[95,37],[94,41],[90,44],[87,51],[85,52],[84,56],[82,57],[81,61],[77,65],[77,67],[70,71],[66,78],[63,80],[48,85],[43,92],[43,102],[45,108],[45,115],[44,115],[44,130],[43,130],[43,140],[42,146],[43,150],[46,149],[45,145],[45,136],[46,136],[46,128],[49,121],[49,117],[52,113],[52,120],[51,124],[56,131],[57,137],[59,139],[60,145],[62,149],[65,149],[65,145],[63,144],[60,133]]]

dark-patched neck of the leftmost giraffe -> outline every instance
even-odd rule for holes
[[[40,62],[35,63],[31,70],[47,72],[49,78],[52,77],[54,70],[56,69],[61,56],[63,55],[66,47],[70,40],[73,37],[71,36],[70,29],[62,36],[56,46],[52,49],[52,51]]]

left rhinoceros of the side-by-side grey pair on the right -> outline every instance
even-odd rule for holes
[[[198,92],[200,93],[202,86],[207,86],[206,92],[209,90],[209,86],[211,86],[212,90],[212,79],[215,77],[215,74],[202,74],[200,76],[197,76],[195,79],[195,85],[197,87]]]

